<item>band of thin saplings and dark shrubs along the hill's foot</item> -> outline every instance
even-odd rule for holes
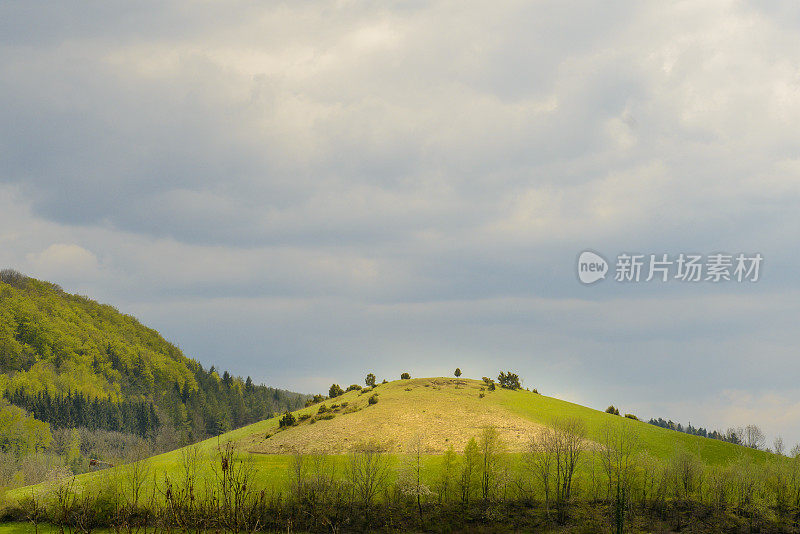
[[[233,442],[210,455],[194,446],[169,474],[142,460],[91,488],[73,477],[18,492],[4,517],[60,532],[798,531],[798,458],[711,466],[677,450],[660,459],[635,427],[610,421],[595,444],[575,418],[552,421],[522,453],[505,445],[487,427],[463,451],[435,456],[419,437],[402,454],[378,442],[298,453],[272,486]]]

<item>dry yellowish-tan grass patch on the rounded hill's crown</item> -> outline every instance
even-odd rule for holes
[[[262,454],[341,454],[375,440],[399,452],[405,449],[405,441],[419,435],[428,452],[441,453],[451,445],[462,451],[470,438],[494,426],[510,452],[524,450],[542,426],[496,405],[491,400],[494,393],[481,391],[481,387],[475,380],[435,378],[401,380],[363,395],[351,392],[323,403],[330,408],[347,402],[345,408],[333,412],[333,418],[311,423],[311,418],[322,417],[316,416],[317,405],[311,410],[312,417],[297,426],[269,437],[249,436],[241,446]],[[378,403],[369,405],[372,393],[378,394]],[[324,413],[326,417],[330,414]]]

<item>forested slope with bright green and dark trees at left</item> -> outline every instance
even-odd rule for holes
[[[0,272],[0,410],[22,408],[54,431],[119,432],[165,449],[293,410],[306,398],[220,376],[112,306]]]

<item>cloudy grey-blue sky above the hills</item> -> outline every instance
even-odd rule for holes
[[[269,385],[508,369],[791,445],[798,30],[788,0],[2,2],[0,266]],[[624,252],[763,262],[619,283]]]

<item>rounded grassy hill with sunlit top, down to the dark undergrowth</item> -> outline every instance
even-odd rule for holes
[[[17,510],[9,517],[24,517],[26,499],[32,502],[30,495],[39,495],[42,502],[52,501],[55,489],[64,482],[79,495],[96,496],[98,502],[107,502],[111,495],[116,496],[114,499],[130,500],[130,488],[137,487],[141,501],[149,503],[148,509],[160,514],[163,521],[177,521],[176,525],[185,527],[188,523],[176,519],[178,509],[188,514],[185,517],[202,517],[204,525],[221,525],[225,523],[221,518],[239,517],[237,514],[241,513],[235,507],[223,506],[221,503],[228,501],[221,496],[225,491],[235,493],[231,488],[246,487],[249,500],[245,500],[252,504],[249,510],[261,514],[258,517],[263,521],[259,523],[262,528],[274,530],[297,525],[325,530],[332,521],[349,525],[345,530],[351,531],[363,530],[370,521],[377,521],[372,524],[375,528],[386,521],[395,525],[396,521],[399,524],[430,521],[428,530],[435,530],[434,525],[442,520],[439,514],[447,513],[448,521],[460,525],[464,531],[469,531],[471,522],[477,521],[502,527],[498,531],[505,531],[513,524],[517,526],[512,530],[561,532],[559,523],[553,522],[554,516],[542,501],[543,491],[551,494],[555,490],[552,487],[543,490],[541,478],[532,467],[537,465],[532,459],[541,459],[542,452],[531,454],[528,444],[532,438],[547,432],[558,418],[565,417],[581,421],[586,429],[584,452],[575,472],[574,498],[582,499],[588,507],[580,510],[591,509],[594,515],[590,518],[581,516],[583,512],[572,512],[577,515],[571,521],[581,526],[583,530],[578,530],[581,532],[610,530],[609,518],[614,516],[609,515],[612,508],[608,506],[615,502],[615,494],[609,493],[609,488],[619,480],[623,480],[619,483],[635,495],[640,506],[642,531],[649,531],[652,521],[664,521],[664,517],[656,517],[653,512],[654,503],[663,506],[665,500],[674,500],[685,505],[687,499],[695,503],[693,506],[700,506],[700,510],[705,510],[702,507],[707,502],[716,503],[709,510],[726,510],[728,504],[719,505],[720,498],[723,503],[737,507],[732,508],[736,510],[733,515],[715,516],[709,532],[729,528],[738,531],[736,525],[752,523],[753,517],[758,517],[758,521],[773,521],[774,526],[780,518],[771,516],[767,510],[779,502],[776,500],[779,496],[786,495],[774,491],[783,487],[776,486],[775,481],[794,488],[792,481],[798,480],[796,475],[800,473],[797,461],[764,451],[667,430],[526,390],[490,390],[481,381],[440,377],[398,380],[369,390],[349,391],[296,410],[291,418],[284,414],[259,421],[144,463],[86,473],[74,482],[65,480],[19,488],[6,495],[10,502],[7,506]],[[282,419],[292,419],[291,424],[281,425]],[[496,429],[504,445],[488,453],[485,436],[491,431],[487,428]],[[611,450],[604,441],[609,429],[619,435],[635,436],[637,447],[629,450],[630,471],[622,471],[627,468],[620,467],[623,463],[628,465],[628,460],[615,464],[611,471],[604,467],[606,452]],[[409,448],[415,436],[419,436],[418,443],[422,445],[418,457]],[[470,462],[465,449],[474,437],[478,438],[478,446],[472,461],[477,463],[472,478],[464,483]],[[369,450],[380,451],[377,454],[382,459],[354,452],[365,443],[372,444]],[[225,456],[225,451],[231,455]],[[488,472],[482,467],[486,465],[493,470],[489,500],[510,506],[491,508],[495,514],[491,517],[484,515],[486,508],[483,508],[489,500],[481,497],[487,495],[481,490],[481,480],[489,480],[481,478],[481,473]],[[365,487],[365,479],[356,475],[364,474],[364,469],[372,469],[375,476],[376,489],[370,502],[387,505],[380,508],[382,515],[371,519],[369,514],[362,513],[367,501],[358,489]],[[450,482],[446,486],[444,473],[448,472]],[[222,480],[227,482],[221,483]],[[413,485],[414,480],[417,486]],[[409,495],[416,495],[413,488],[423,486],[426,489],[419,494],[420,500],[416,504],[409,500]],[[464,501],[464,488],[471,488],[473,500],[469,503]],[[800,491],[800,486],[797,490]],[[191,495],[210,500],[202,501],[206,504],[201,505]],[[468,508],[467,504],[474,507]],[[518,509],[514,507],[523,507],[528,512],[524,517],[514,517],[513,510]],[[465,513],[468,509],[471,511]],[[671,510],[674,512],[669,515],[671,526],[664,527],[665,531],[685,521],[681,508]],[[58,515],[52,517],[57,520]]]

